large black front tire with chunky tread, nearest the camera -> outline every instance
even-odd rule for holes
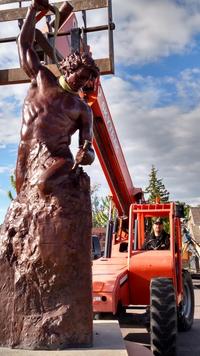
[[[172,279],[154,278],[150,285],[151,350],[155,356],[175,356],[177,308]]]

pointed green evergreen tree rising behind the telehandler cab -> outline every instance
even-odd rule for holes
[[[159,198],[161,202],[169,201],[169,192],[165,188],[163,180],[157,177],[157,172],[158,170],[152,165],[149,174],[149,185],[145,189],[145,193],[149,194],[148,200],[150,203],[155,203],[156,198]]]

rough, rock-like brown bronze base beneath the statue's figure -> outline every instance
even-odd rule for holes
[[[12,202],[0,233],[0,345],[63,349],[92,345],[91,202],[78,169]]]

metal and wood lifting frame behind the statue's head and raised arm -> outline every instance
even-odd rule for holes
[[[21,7],[25,0],[0,0],[0,5],[19,3],[19,8],[0,10],[0,22],[5,21],[16,21],[18,20],[19,27],[22,25],[23,19],[26,17],[27,7]],[[98,58],[95,59],[96,64],[100,68],[101,75],[113,74],[114,73],[114,50],[113,50],[113,30],[115,28],[112,22],[112,0],[71,0],[70,5],[73,7],[73,12],[82,11],[84,27],[82,29],[75,28],[69,32],[58,32],[57,36],[69,36],[71,35],[72,51],[80,46],[80,41],[84,46],[87,46],[87,33],[97,32],[97,31],[108,31],[108,58]],[[56,6],[60,7],[63,3],[55,3]],[[108,13],[108,23],[102,26],[87,27],[86,13],[89,10],[97,10],[100,8],[107,8]],[[49,11],[45,16],[52,15],[53,12]],[[37,46],[42,49],[47,61],[48,68],[56,75],[59,76],[60,72],[56,64],[54,64],[54,54],[53,47],[51,46],[51,37],[53,33],[47,32],[42,33],[39,29],[36,29],[36,43]],[[49,39],[49,40],[48,40]],[[15,42],[17,37],[0,38],[0,43]],[[62,60],[63,56],[57,52],[58,60]],[[48,62],[52,64],[48,64]],[[0,70],[0,85],[6,84],[18,84],[29,82],[30,79],[24,73],[21,68],[12,69],[2,69]]]

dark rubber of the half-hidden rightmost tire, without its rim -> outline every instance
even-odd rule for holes
[[[178,331],[188,331],[191,329],[193,321],[194,321],[194,289],[192,284],[192,277],[190,273],[186,270],[183,270],[182,273],[183,284],[187,284],[190,290],[191,297],[191,311],[190,316],[187,318],[185,315],[181,313],[181,306],[178,307]]]

